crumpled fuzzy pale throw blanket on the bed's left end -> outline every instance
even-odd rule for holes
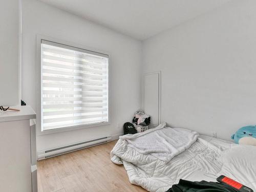
[[[184,152],[198,137],[198,133],[187,129],[172,129],[165,123],[143,133],[121,136],[111,151],[111,160],[122,164],[122,160],[131,163],[148,163],[156,159],[169,162]]]

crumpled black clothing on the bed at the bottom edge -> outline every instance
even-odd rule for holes
[[[166,192],[238,192],[226,184],[208,181],[186,181],[180,179],[178,184],[169,188]]]

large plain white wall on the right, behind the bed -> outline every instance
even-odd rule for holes
[[[162,121],[230,139],[256,117],[256,1],[232,1],[143,42],[162,71]]]

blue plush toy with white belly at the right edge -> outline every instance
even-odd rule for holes
[[[256,125],[244,126],[231,136],[237,144],[247,144],[256,146]]]

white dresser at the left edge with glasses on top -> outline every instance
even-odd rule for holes
[[[36,114],[30,106],[19,109],[0,111],[0,191],[36,192]]]

